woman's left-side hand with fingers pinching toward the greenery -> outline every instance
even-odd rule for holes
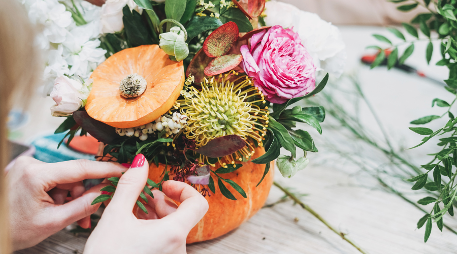
[[[82,180],[119,177],[125,170],[125,167],[109,162],[44,163],[19,157],[7,174],[13,248],[34,246],[75,221],[81,227],[89,228],[90,214],[100,206],[90,204],[108,184],[99,184],[86,191]],[[72,200],[64,203],[69,192]]]

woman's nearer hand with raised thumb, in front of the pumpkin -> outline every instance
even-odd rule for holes
[[[148,164],[138,154],[116,187],[110,204],[84,248],[90,253],[186,253],[186,237],[208,210],[206,199],[192,186],[177,181],[162,183],[148,197],[148,214],[133,209],[146,184]],[[179,207],[173,202],[181,202]]]

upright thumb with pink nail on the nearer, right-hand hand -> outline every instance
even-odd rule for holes
[[[140,196],[148,178],[149,165],[143,154],[135,156],[132,166],[125,172],[117,183],[116,192],[110,205],[109,211],[132,213],[135,203]]]

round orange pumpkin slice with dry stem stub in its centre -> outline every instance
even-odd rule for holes
[[[170,110],[185,76],[182,61],[170,60],[158,45],[143,45],[113,54],[90,78],[93,85],[85,106],[89,116],[125,129]]]

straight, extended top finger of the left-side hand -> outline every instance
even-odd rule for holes
[[[113,162],[74,160],[37,165],[37,176],[49,185],[73,183],[84,179],[121,176],[127,168]]]

